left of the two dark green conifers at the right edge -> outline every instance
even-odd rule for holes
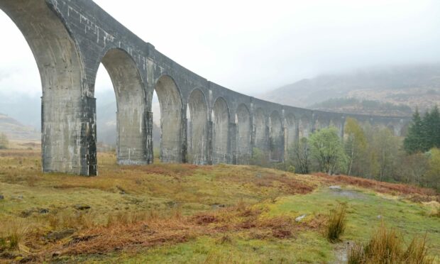
[[[407,137],[403,141],[403,147],[408,154],[424,151],[424,124],[420,117],[419,110],[416,109],[412,115],[412,122],[408,128]]]

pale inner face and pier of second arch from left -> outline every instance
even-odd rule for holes
[[[145,92],[136,62],[119,48],[108,50],[102,65],[109,73],[116,95],[116,155],[119,164],[145,164]]]

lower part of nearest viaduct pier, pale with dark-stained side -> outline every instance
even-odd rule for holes
[[[97,175],[96,100],[74,94],[43,93],[43,172]]]

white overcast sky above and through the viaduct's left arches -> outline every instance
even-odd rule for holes
[[[189,70],[246,94],[321,73],[440,61],[439,0],[96,0]],[[0,92],[40,94],[18,28],[0,12]],[[101,70],[97,91],[111,88]]]

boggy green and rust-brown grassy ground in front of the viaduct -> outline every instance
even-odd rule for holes
[[[355,177],[127,167],[111,153],[99,153],[98,177],[43,175],[38,151],[1,150],[0,195],[0,262],[337,263],[381,223],[407,243],[427,234],[440,256],[439,194]],[[332,244],[323,229],[339,204],[348,227]]]

